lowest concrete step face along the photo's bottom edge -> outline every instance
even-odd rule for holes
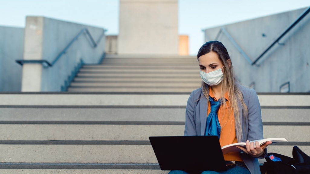
[[[1,166],[1,164],[0,164]],[[93,169],[93,170],[85,170],[85,169],[0,169],[0,173],[2,174],[167,174],[169,171],[162,170],[132,170],[132,169]]]

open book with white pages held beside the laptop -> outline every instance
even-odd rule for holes
[[[272,141],[272,143],[276,143],[276,142],[280,142],[280,141],[287,141],[285,138],[266,138],[266,139],[262,139],[262,140],[254,140],[254,141],[250,141],[254,142],[254,146],[255,146],[255,141],[258,141],[259,145],[263,145],[264,143],[266,143],[267,141]],[[241,152],[242,150],[237,148],[236,146],[241,146],[246,148],[246,143],[234,143],[234,144],[230,144],[230,145],[224,145],[222,147],[222,152],[223,154],[227,154],[230,152]]]

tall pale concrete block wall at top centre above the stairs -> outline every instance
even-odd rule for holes
[[[120,0],[118,54],[179,54],[178,0]]]

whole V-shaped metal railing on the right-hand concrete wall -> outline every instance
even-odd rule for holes
[[[261,59],[276,43],[280,41],[281,38],[283,38],[294,26],[296,26],[299,21],[301,21],[308,13],[310,12],[310,7],[306,9],[291,25],[289,25],[275,41],[273,41],[268,48],[266,48],[253,62],[252,60],[246,55],[245,51],[241,49],[241,47],[237,44],[237,42],[230,36],[230,34],[222,27],[218,34],[216,35],[214,40],[217,40],[219,38],[219,35],[221,33],[224,33],[226,37],[229,39],[230,42],[237,48],[237,50],[240,52],[240,54],[251,64],[255,65],[259,59]]]

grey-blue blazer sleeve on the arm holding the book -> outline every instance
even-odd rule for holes
[[[262,112],[260,109],[258,96],[255,90],[251,90],[249,95],[248,125],[249,125],[249,132],[247,139],[249,141],[263,139]],[[265,158],[266,156],[267,156],[267,149],[265,149],[264,154],[259,158]]]

